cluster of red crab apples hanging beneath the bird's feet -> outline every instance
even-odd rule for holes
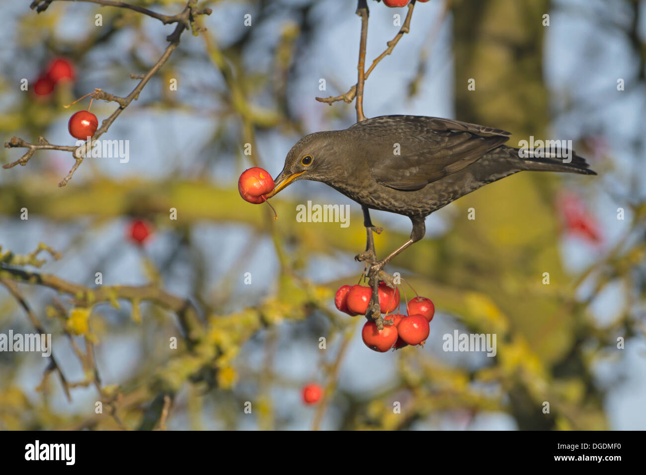
[[[378,295],[381,313],[389,313],[399,307],[399,290],[380,282]],[[337,290],[334,303],[348,315],[364,315],[368,311],[371,297],[370,287],[344,285]],[[415,297],[406,303],[406,313],[407,315],[386,315],[383,330],[379,330],[375,322],[367,321],[361,330],[366,346],[375,352],[384,353],[391,348],[397,350],[409,344],[424,344],[430,333],[429,323],[435,313],[433,302],[426,297]]]

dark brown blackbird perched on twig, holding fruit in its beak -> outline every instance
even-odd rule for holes
[[[366,227],[372,227],[370,209],[408,216],[410,238],[372,263],[378,272],[424,237],[426,216],[486,184],[520,171],[596,175],[574,151],[524,153],[505,145],[510,136],[501,129],[437,117],[369,118],[298,140],[266,198],[298,180],[313,180],[359,203]]]

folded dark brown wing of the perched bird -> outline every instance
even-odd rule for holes
[[[511,135],[483,125],[424,116],[375,117],[348,131],[364,132],[359,137],[366,141],[373,179],[405,191],[422,189],[464,169]],[[395,144],[400,154],[395,154]]]

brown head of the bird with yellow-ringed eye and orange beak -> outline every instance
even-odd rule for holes
[[[335,172],[335,158],[340,153],[339,131],[316,132],[300,139],[285,158],[282,172],[276,176],[276,187],[266,198],[276,195],[296,180],[329,183]]]

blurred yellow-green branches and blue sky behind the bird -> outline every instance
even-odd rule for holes
[[[131,3],[169,15],[185,6]],[[56,361],[0,353],[0,429],[646,428],[645,1],[415,5],[410,33],[366,81],[366,116],[457,118],[510,131],[515,146],[572,140],[599,176],[519,173],[429,216],[424,240],[388,270],[435,303],[430,337],[386,354],[362,343],[362,317],[333,304],[362,272],[360,207],[303,180],[272,200],[273,220],[236,189],[251,166],[280,173],[304,134],[354,123],[354,104],[315,97],[357,81],[355,3],[200,6],[213,8],[198,19],[207,31],[184,32],[102,137],[129,140],[129,162],[88,158],[65,187],[65,151],[0,170],[0,333],[38,324]],[[366,65],[408,11],[368,6]],[[5,1],[0,23],[2,141],[58,145],[74,145],[67,121],[89,100],[63,105],[95,88],[129,94],[130,74],[151,69],[174,29],[67,1],[41,14]],[[55,58],[74,77],[37,94]],[[115,109],[92,104],[99,124]],[[0,149],[0,163],[25,151]],[[297,222],[307,200],[349,204],[349,227]],[[372,218],[384,227],[378,255],[408,238],[408,218]],[[497,355],[444,352],[455,330],[495,333]],[[324,388],[317,405],[302,401],[311,383]]]

